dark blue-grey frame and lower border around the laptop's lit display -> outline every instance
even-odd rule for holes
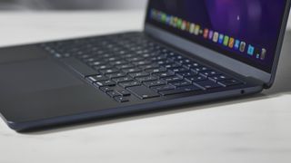
[[[281,53],[281,48],[282,48],[284,35],[286,31],[286,24],[287,24],[287,20],[289,16],[291,0],[286,0],[286,7],[285,7],[284,15],[282,17],[282,23],[281,23],[278,39],[276,42],[276,52],[274,54],[274,61],[272,65],[270,66],[271,67],[270,71],[256,68],[246,62],[241,62],[239,60],[231,58],[224,53],[211,50],[210,48],[207,48],[205,45],[191,42],[190,40],[184,37],[181,37],[177,34],[172,34],[164,30],[163,28],[156,26],[155,24],[150,24],[149,22],[147,22],[148,20],[147,12],[149,11],[150,1],[151,0],[148,1],[147,7],[146,7],[146,21],[145,21],[146,34],[150,34],[153,37],[156,37],[156,39],[162,40],[163,42],[173,44],[174,46],[180,49],[183,49],[184,51],[188,53],[193,53],[194,55],[197,55],[200,58],[206,59],[209,62],[215,62],[216,64],[223,66],[226,69],[232,70],[233,72],[239,73],[246,77],[253,77],[255,79],[258,79],[266,83],[266,86],[265,86],[266,88],[271,87],[276,76],[276,68],[277,68],[278,59]]]

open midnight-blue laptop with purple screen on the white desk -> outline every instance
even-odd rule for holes
[[[0,112],[25,131],[269,89],[290,0],[149,0],[143,32],[0,49]]]

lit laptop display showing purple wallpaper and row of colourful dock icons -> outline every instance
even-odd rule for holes
[[[286,0],[150,0],[146,22],[271,72]]]

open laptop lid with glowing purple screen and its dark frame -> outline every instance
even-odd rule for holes
[[[289,10],[290,0],[149,0],[145,32],[269,88]]]

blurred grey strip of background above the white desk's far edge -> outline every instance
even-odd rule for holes
[[[0,10],[144,9],[146,0],[0,0]]]

